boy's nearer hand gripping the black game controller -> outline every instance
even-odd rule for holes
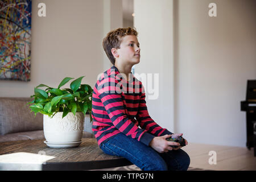
[[[171,137],[172,135],[164,135],[162,137],[154,137],[149,146],[154,148],[154,150],[156,150],[159,153],[163,153],[163,152],[168,152],[169,150],[172,150],[171,146],[180,146],[179,143],[177,142],[170,142],[167,141],[166,138]],[[180,148],[180,147],[177,147]],[[177,150],[177,148],[175,148],[175,150]]]

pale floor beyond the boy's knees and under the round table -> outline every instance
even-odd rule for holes
[[[189,171],[256,171],[256,157],[254,157],[253,148],[248,150],[246,147],[229,147],[189,143],[188,146],[183,147],[183,150],[186,151],[191,158],[191,163],[188,169]],[[209,155],[210,151],[213,152]],[[214,155],[216,156],[216,164],[214,164],[213,160]],[[137,171],[140,169],[137,166],[132,165],[101,170]]]

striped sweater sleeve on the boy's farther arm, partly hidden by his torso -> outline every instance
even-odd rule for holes
[[[143,88],[143,86],[142,86]],[[144,88],[143,88],[144,90]],[[139,126],[142,129],[145,129],[148,133],[154,135],[155,137],[170,135],[173,134],[167,129],[163,129],[160,127],[148,114],[147,106],[146,106],[146,94],[142,92],[141,99],[139,100],[139,110],[136,115],[136,119],[139,122]]]

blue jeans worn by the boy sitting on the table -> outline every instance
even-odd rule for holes
[[[190,164],[188,154],[181,148],[159,153],[123,133],[102,142],[100,148],[106,154],[130,160],[131,163],[145,171],[186,171]]]

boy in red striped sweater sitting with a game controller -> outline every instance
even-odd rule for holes
[[[117,28],[102,42],[113,67],[94,86],[92,130],[101,150],[122,156],[142,170],[187,170],[188,154],[179,143],[166,140],[182,134],[163,129],[148,115],[142,82],[131,73],[141,57],[137,35],[133,28]]]

